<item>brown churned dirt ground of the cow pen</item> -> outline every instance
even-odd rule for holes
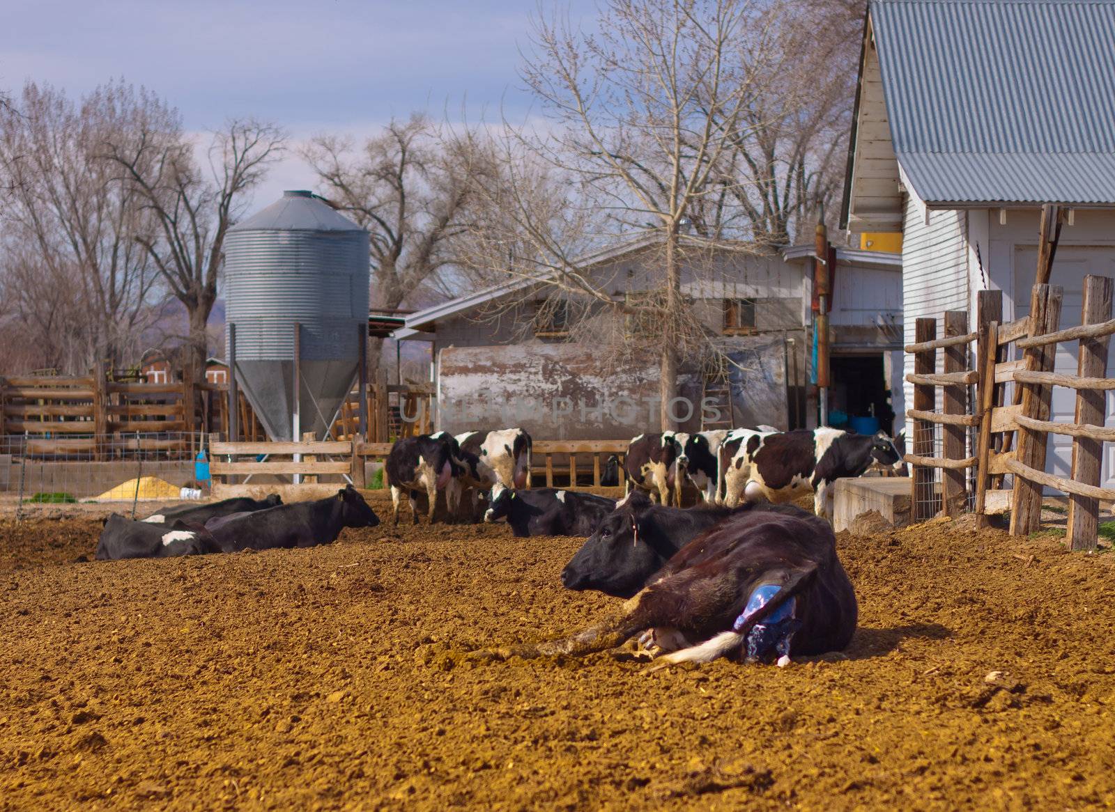
[[[561,588],[579,539],[424,525],[75,561],[99,529],[0,525],[0,810],[1115,804],[1109,552],[843,534],[847,652],[648,675],[464,658],[613,600]]]

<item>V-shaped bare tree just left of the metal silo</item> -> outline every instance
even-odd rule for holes
[[[285,134],[234,119],[213,134],[201,160],[177,111],[155,97],[140,98],[129,129],[105,144],[105,155],[155,219],[155,232],[138,242],[185,307],[192,362],[202,369],[225,235],[243,211],[244,193],[283,151]]]

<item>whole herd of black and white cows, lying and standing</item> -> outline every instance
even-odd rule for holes
[[[396,522],[404,493],[416,524],[421,492],[432,521],[438,492],[450,519],[468,491],[474,509],[484,495],[484,520],[505,519],[515,536],[586,536],[562,585],[627,599],[571,637],[471,656],[581,655],[638,636],[639,654],[656,659],[656,668],[721,656],[786,665],[792,645],[801,655],[838,650],[855,630],[855,594],[822,518],[828,486],[872,467],[896,467],[901,456],[883,433],[764,428],[634,438],[624,460],[628,493],[618,501],[531,489],[531,438],[521,429],[405,438],[385,470]],[[682,509],[687,483],[701,503]],[[808,492],[813,513],[784,503]],[[229,499],[139,521],[114,515],[96,558],[312,547],[332,542],[345,527],[378,524],[351,486],[294,505],[275,495]]]

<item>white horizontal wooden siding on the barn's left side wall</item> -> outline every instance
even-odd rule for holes
[[[940,330],[940,319],[950,310],[968,310],[968,246],[963,213],[930,212],[927,225],[924,209],[910,195],[902,234],[905,343],[913,343],[918,319],[937,319]],[[939,364],[940,355],[938,353]],[[905,371],[913,372],[913,355],[905,356]],[[912,384],[905,384],[904,394],[906,404],[912,407]]]

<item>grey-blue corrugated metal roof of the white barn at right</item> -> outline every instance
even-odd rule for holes
[[[1115,204],[1115,0],[873,0],[871,19],[919,197]]]

